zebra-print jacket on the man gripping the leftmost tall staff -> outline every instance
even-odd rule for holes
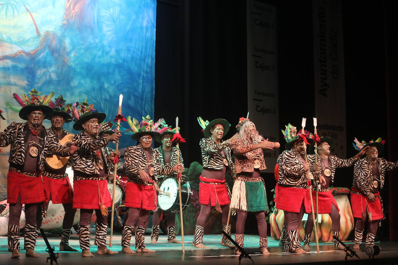
[[[107,145],[106,138],[100,138],[98,135],[91,139],[85,132],[80,132],[73,137],[73,141],[76,141],[76,146],[79,150],[72,155],[72,169],[83,172],[87,175],[92,175],[92,177],[85,177],[81,179],[98,179],[100,174],[100,168],[96,163],[97,154],[96,151],[100,150],[101,156],[105,159],[103,161],[103,166],[105,174],[110,174],[109,168],[106,164],[107,157],[104,155],[102,147]],[[75,179],[80,179],[76,178]],[[105,178],[103,178],[105,179]]]

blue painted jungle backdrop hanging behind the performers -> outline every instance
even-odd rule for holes
[[[153,117],[155,21],[156,0],[0,0],[1,131],[21,122],[6,108],[17,105],[12,93],[32,88],[66,103],[87,98],[107,120],[123,93],[124,116]],[[74,132],[72,124],[64,127]],[[133,144],[125,135],[121,147]],[[0,198],[8,151],[1,148]]]

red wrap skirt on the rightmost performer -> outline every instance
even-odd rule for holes
[[[360,192],[355,188],[351,188],[353,191]],[[375,196],[379,196],[380,193],[374,194]],[[368,199],[368,196],[354,194],[351,192],[351,208],[352,208],[352,215],[355,218],[362,218],[362,213],[372,213],[372,220],[380,220],[382,219],[383,212],[381,208],[380,197],[376,197],[376,201],[371,201]]]

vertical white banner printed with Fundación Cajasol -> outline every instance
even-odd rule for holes
[[[276,7],[255,0],[246,4],[249,119],[261,135],[279,142]],[[265,150],[265,172],[274,171],[278,155],[279,149]]]

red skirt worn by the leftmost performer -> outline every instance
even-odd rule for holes
[[[43,178],[9,171],[7,174],[7,202],[16,203],[18,195],[21,197],[22,204],[47,201]]]

